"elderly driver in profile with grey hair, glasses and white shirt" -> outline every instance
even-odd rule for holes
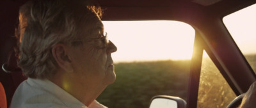
[[[115,81],[100,10],[81,0],[33,0],[20,8],[19,66],[28,79],[11,107],[105,107],[95,98]]]

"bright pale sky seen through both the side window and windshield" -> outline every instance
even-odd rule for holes
[[[256,4],[223,18],[244,55],[256,53]],[[252,14],[253,13],[253,14]],[[115,62],[184,60],[193,53],[195,30],[177,21],[103,21],[118,50]]]

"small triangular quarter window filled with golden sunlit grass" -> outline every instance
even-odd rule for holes
[[[227,107],[234,98],[236,94],[204,51],[197,107]]]

